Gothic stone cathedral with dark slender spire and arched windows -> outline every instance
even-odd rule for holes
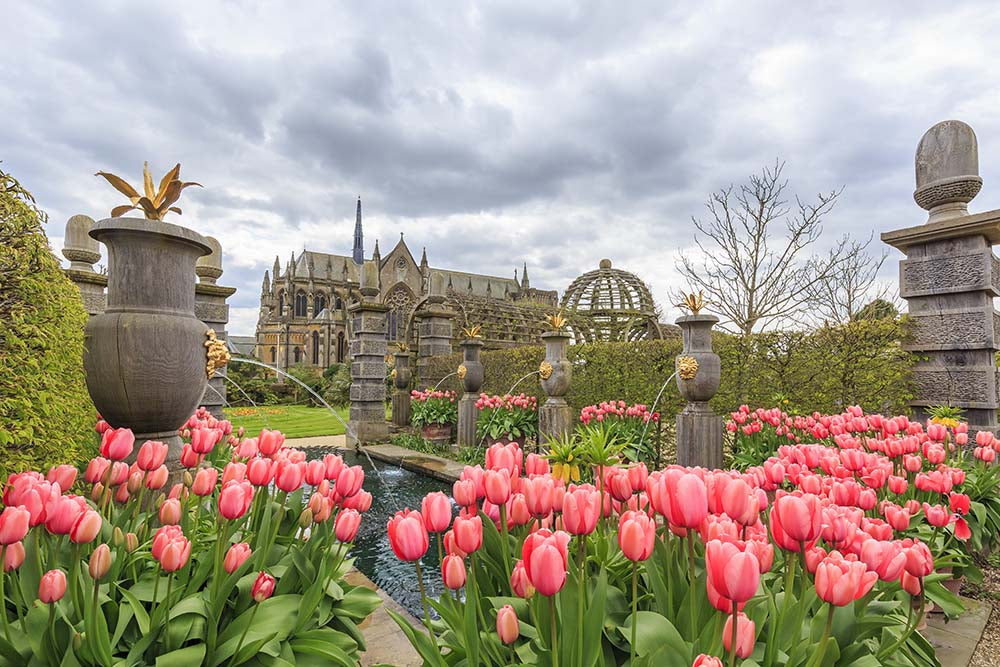
[[[378,241],[371,261],[378,266],[377,299],[389,307],[386,339],[390,343],[416,343],[414,315],[427,302],[434,284],[446,286],[445,305],[456,313],[456,338],[462,327],[481,326],[487,348],[497,349],[537,342],[546,314],[558,308],[553,291],[531,287],[528,267],[518,277],[500,278],[430,266],[427,251],[418,262],[403,235],[386,255]],[[348,343],[351,321],[347,308],[361,298],[360,275],[365,262],[358,199],[351,255],[303,250],[292,255],[284,271],[276,257],[264,272],[255,353],[258,359],[279,368],[305,365],[326,368],[350,361]]]

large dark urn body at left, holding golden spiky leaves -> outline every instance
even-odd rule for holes
[[[180,456],[177,430],[207,384],[206,333],[195,317],[195,263],[212,251],[200,234],[158,220],[110,218],[90,235],[108,249],[107,308],[87,322],[87,389],[136,445],[162,440]]]

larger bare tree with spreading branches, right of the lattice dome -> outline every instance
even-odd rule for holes
[[[800,315],[814,286],[858,252],[845,237],[823,255],[807,255],[843,189],[821,193],[815,203],[795,197],[793,210],[784,194],[784,166],[775,161],[738,188],[713,193],[706,204],[710,219],[692,218],[703,261],[678,258],[677,269],[705,291],[709,308],[726,320],[723,326],[741,334]]]

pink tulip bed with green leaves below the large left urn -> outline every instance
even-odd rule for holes
[[[343,580],[371,504],[360,468],[307,464],[279,432],[244,439],[200,411],[164,493],[166,445],[129,466],[132,432],[98,431],[82,480],[58,466],[4,487],[0,665],[357,664],[356,624],[378,605]]]

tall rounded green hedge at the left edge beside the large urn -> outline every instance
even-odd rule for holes
[[[0,171],[0,474],[76,463],[94,443],[80,293],[42,230],[45,214]]]

